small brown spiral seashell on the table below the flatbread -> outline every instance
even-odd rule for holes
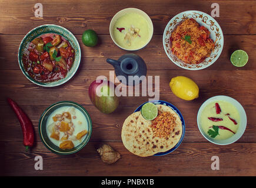
[[[101,156],[101,160],[107,164],[115,163],[118,159],[121,159],[121,155],[109,145],[99,147],[97,152],[99,153],[99,156]]]

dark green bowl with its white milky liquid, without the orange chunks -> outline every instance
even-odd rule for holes
[[[71,119],[64,118],[65,116],[63,116],[62,120],[59,119],[55,122],[54,116],[62,115],[67,112],[69,112]],[[65,122],[65,120],[69,120],[68,125],[71,125],[70,123],[72,123],[74,131],[69,135],[67,132],[60,131],[61,129],[59,128],[59,140],[52,138],[52,130],[56,130],[56,127],[58,127],[57,124],[61,121]],[[60,125],[61,123],[59,124],[59,127]],[[47,149],[59,155],[70,155],[78,152],[87,145],[92,133],[92,121],[87,110],[78,103],[72,101],[60,101],[52,104],[42,113],[39,119],[38,130],[42,143],[44,143]],[[81,139],[77,139],[76,137],[78,133],[82,132],[82,130],[87,130],[87,134],[82,136]],[[65,134],[68,135],[66,135],[68,137],[67,140],[70,140],[74,145],[72,149],[61,149],[59,147],[61,143],[65,141],[61,140]]]

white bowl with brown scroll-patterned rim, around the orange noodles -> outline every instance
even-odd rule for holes
[[[190,65],[181,61],[177,58],[177,56],[172,53],[170,48],[169,38],[171,37],[171,33],[178,26],[178,24],[181,24],[181,22],[183,22],[186,18],[194,18],[195,21],[198,22],[198,24],[200,24],[201,26],[205,26],[205,28],[210,31],[210,38],[215,42],[215,48],[211,52],[210,57],[206,58],[205,61],[198,64]],[[215,61],[217,61],[217,59],[221,55],[224,46],[224,36],[220,25],[218,25],[217,21],[215,21],[215,19],[212,18],[210,15],[200,11],[185,11],[174,16],[171,21],[168,22],[164,30],[162,42],[168,58],[171,59],[171,61],[174,62],[176,65],[188,70],[200,70],[207,68]]]

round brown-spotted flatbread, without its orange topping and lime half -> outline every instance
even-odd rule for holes
[[[174,147],[181,138],[182,122],[177,113],[168,106],[156,106],[159,111],[171,113],[176,119],[176,125],[169,136],[156,137],[151,127],[152,121],[144,119],[140,112],[135,112],[127,117],[122,127],[122,142],[135,155],[147,157],[158,152],[166,152]]]

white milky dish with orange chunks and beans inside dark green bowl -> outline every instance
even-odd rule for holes
[[[46,132],[54,145],[61,149],[72,149],[88,135],[88,122],[79,109],[62,106],[49,115]]]

